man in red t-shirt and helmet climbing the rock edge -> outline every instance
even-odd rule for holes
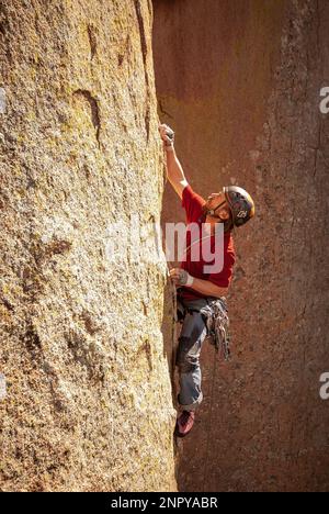
[[[243,225],[254,215],[254,204],[245,189],[237,186],[224,187],[212,193],[205,201],[193,191],[185,179],[182,166],[174,150],[174,132],[166,124],[158,127],[167,158],[167,177],[185,209],[186,223],[197,223],[207,230],[208,237],[215,238],[216,226],[224,224],[224,266],[220,272],[205,273],[203,254],[191,259],[191,246],[202,245],[203,237],[192,241],[186,232],[185,258],[178,268],[170,270],[177,287],[178,319],[182,322],[175,365],[180,376],[178,416],[175,434],[183,437],[191,431],[195,410],[203,399],[201,390],[200,354],[207,335],[213,336],[217,350],[222,349],[229,359],[229,333],[226,294],[235,264],[235,248],[231,231]]]

